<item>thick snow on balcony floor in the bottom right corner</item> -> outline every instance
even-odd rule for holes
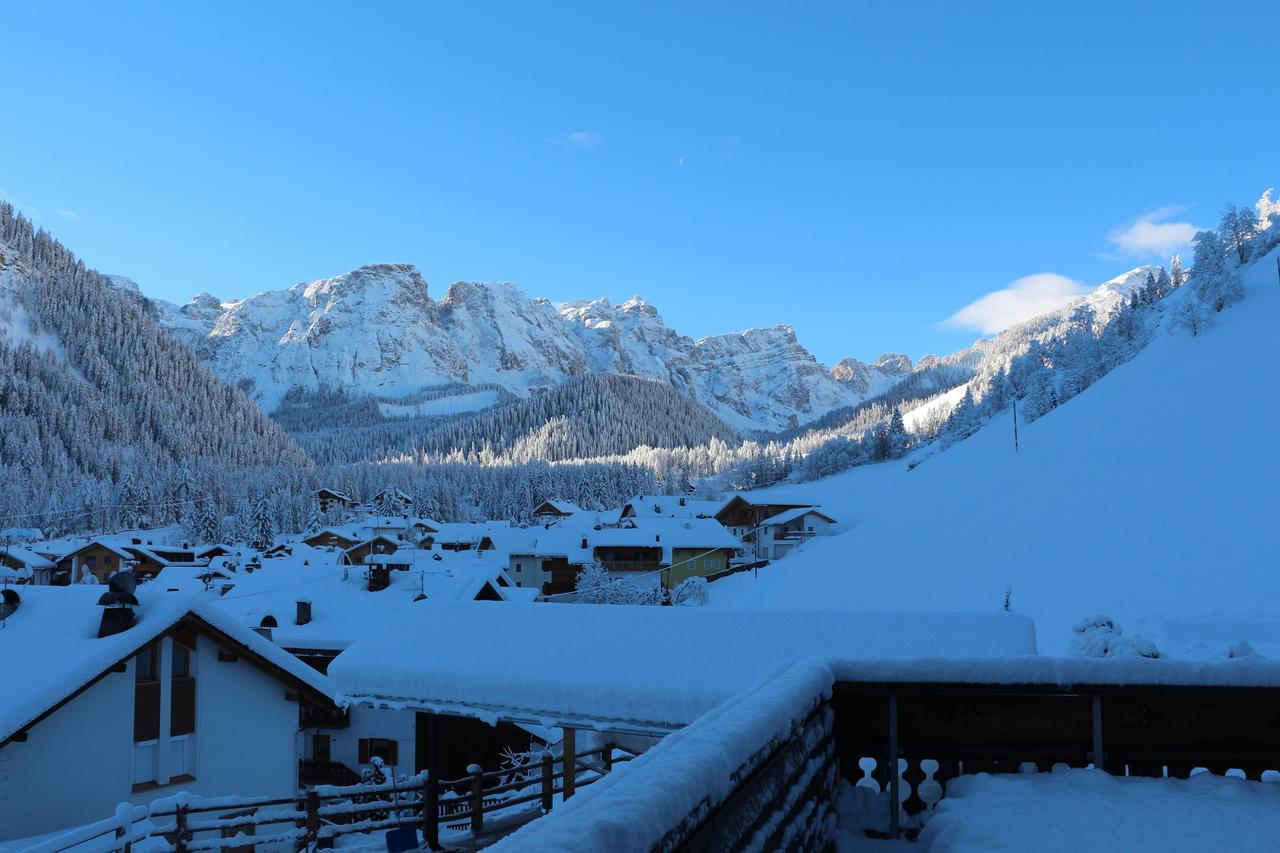
[[[960,850],[1276,849],[1280,785],[1199,774],[1190,779],[1111,776],[1101,770],[947,783],[922,847]]]

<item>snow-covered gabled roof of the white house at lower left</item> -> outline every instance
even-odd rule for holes
[[[23,587],[22,603],[0,630],[4,689],[0,690],[0,742],[31,725],[120,661],[188,616],[246,647],[315,693],[333,698],[320,672],[259,637],[225,611],[183,593],[143,584],[137,621],[128,630],[99,638],[101,585]]]

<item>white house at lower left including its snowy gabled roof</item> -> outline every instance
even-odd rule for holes
[[[193,596],[6,592],[0,845],[177,792],[297,793],[300,703],[337,707],[324,675]]]

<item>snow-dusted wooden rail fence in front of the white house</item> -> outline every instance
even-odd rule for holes
[[[146,840],[148,850],[187,853],[252,849],[264,844],[296,849],[329,847],[340,835],[387,830],[420,831],[431,849],[449,833],[497,835],[552,811],[557,795],[608,774],[635,754],[616,745],[576,753],[564,761],[543,753],[536,765],[484,771],[462,779],[431,780],[425,772],[380,785],[321,785],[298,797],[218,797],[179,794],[151,807],[122,804],[113,817],[82,826],[35,848],[61,853],[91,844],[95,850],[129,852]],[[425,804],[425,808],[424,808]],[[416,836],[415,836],[416,844]]]

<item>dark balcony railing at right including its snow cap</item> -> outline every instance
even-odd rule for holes
[[[1012,658],[835,670],[841,775],[890,794],[891,833],[931,811],[963,774],[1065,765],[1260,779],[1280,770],[1280,665],[1271,662]]]

